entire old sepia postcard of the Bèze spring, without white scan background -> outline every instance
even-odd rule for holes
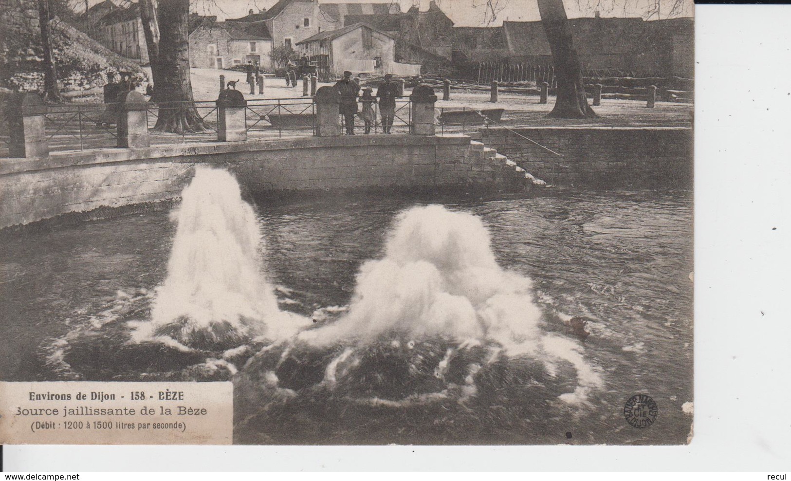
[[[0,444],[691,440],[692,2],[0,5]]]

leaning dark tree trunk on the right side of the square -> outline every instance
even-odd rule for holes
[[[558,82],[554,108],[547,117],[555,119],[584,119],[598,117],[590,108],[582,81],[582,66],[569,28],[562,0],[538,0],[541,24],[547,34],[554,75]]]

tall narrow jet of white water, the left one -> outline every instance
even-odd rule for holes
[[[292,335],[307,320],[278,309],[273,288],[259,271],[262,238],[252,206],[225,170],[197,167],[172,213],[176,222],[168,277],[157,289],[145,339],[169,324],[184,342],[201,336],[222,341]],[[172,332],[168,331],[169,335]]]

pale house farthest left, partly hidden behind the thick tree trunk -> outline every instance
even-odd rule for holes
[[[91,31],[93,39],[127,59],[148,63],[146,37],[143,35],[138,4],[110,10],[94,25]]]

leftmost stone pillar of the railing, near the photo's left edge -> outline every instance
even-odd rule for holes
[[[49,145],[44,131],[47,106],[35,93],[13,93],[6,104],[11,157],[47,157]]]

